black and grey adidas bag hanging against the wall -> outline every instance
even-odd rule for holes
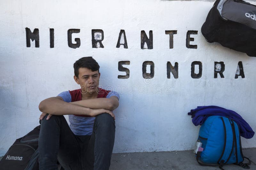
[[[256,56],[256,6],[242,0],[217,0],[201,32],[212,43]]]

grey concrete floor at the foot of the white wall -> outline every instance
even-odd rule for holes
[[[243,149],[245,157],[256,163],[256,148]],[[0,160],[2,157],[0,157]],[[246,161],[246,160],[245,160]],[[256,170],[252,163],[251,169]],[[225,165],[225,170],[242,170],[237,165]],[[110,170],[219,170],[219,167],[200,166],[193,151],[114,153]]]

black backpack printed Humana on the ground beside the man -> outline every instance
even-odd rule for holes
[[[16,139],[0,161],[0,170],[38,170],[38,138],[41,125]]]

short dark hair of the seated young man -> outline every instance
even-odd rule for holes
[[[100,72],[99,64],[92,57],[82,57],[81,59],[77,60],[74,63],[74,72],[75,72],[76,77],[78,77],[78,74],[79,74],[78,69],[79,68],[88,68],[88,69],[91,69],[92,71],[98,70]]]

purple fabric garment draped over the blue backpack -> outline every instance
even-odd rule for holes
[[[240,129],[240,135],[246,139],[250,139],[254,135],[254,131],[251,126],[245,122],[245,120],[235,111],[228,110],[218,106],[197,106],[196,109],[192,109],[188,112],[191,115],[192,122],[197,125],[201,125],[209,116],[225,116],[234,120]]]

